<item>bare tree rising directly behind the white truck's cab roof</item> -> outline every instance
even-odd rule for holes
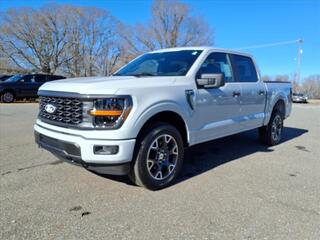
[[[203,18],[193,16],[178,0],[155,0],[146,24],[128,26],[122,37],[132,55],[159,48],[212,45],[213,34]]]

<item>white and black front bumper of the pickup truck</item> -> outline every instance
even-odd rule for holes
[[[130,170],[135,139],[85,139],[82,136],[49,130],[37,124],[34,125],[34,130],[38,145],[61,160],[105,174],[125,175]],[[112,155],[95,154],[95,145],[116,145],[119,150]]]

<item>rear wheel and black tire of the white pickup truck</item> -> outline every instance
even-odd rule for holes
[[[279,110],[273,111],[267,126],[259,128],[260,140],[269,146],[280,143],[283,132],[283,116]]]

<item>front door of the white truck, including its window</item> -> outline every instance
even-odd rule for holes
[[[196,142],[219,138],[241,130],[240,95],[241,83],[235,82],[229,56],[214,52],[201,65],[201,74],[222,73],[225,85],[218,88],[198,88],[195,97],[194,139]]]

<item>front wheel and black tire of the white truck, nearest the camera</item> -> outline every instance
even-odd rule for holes
[[[180,132],[167,123],[155,123],[137,140],[129,174],[138,186],[158,190],[172,184],[178,176],[184,155]]]

